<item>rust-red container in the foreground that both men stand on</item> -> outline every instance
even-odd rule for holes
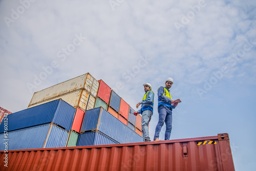
[[[205,140],[217,144],[197,145]],[[229,140],[218,136],[13,150],[8,167],[5,155],[0,151],[0,170],[234,170]]]

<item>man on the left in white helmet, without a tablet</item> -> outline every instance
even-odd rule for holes
[[[144,142],[151,141],[150,133],[148,133],[148,123],[150,123],[151,117],[153,115],[153,105],[154,105],[154,92],[152,91],[152,86],[150,83],[143,84],[145,95],[137,105],[136,108],[139,108],[141,104],[141,109],[138,112],[135,112],[134,115],[141,114],[141,127],[142,127],[142,138]]]

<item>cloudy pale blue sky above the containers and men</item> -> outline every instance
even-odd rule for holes
[[[256,170],[256,2],[0,1],[0,106],[79,75],[102,79],[133,109],[172,77],[170,139],[228,133],[236,170]],[[254,131],[253,131],[254,130]],[[159,139],[164,139],[165,125]]]

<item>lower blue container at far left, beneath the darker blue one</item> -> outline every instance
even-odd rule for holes
[[[31,149],[43,147],[65,147],[68,132],[54,124],[44,124],[0,134],[0,151],[8,149]],[[6,140],[8,139],[8,140]],[[7,142],[4,144],[4,142]]]

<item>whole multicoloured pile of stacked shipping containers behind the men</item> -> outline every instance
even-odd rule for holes
[[[61,114],[66,109],[61,106],[54,106],[58,105],[58,103],[66,103],[65,101],[73,106],[72,115],[66,116],[65,114]],[[101,129],[84,130],[81,125],[90,116],[90,113],[92,113],[91,109],[93,108],[95,110],[97,108],[98,110],[100,109],[98,111],[99,115],[97,115],[99,120],[101,116],[109,116],[112,122],[101,120],[101,124],[108,125],[104,129],[102,129],[101,125]],[[33,135],[30,132],[39,131],[42,133],[41,137],[37,137],[40,142],[36,143],[37,145],[28,144],[29,146],[26,146],[22,144],[22,146],[13,146],[13,149],[46,147],[52,143],[51,141],[47,141],[48,136],[51,135],[54,135],[52,137],[64,137],[64,139],[58,140],[57,142],[59,144],[53,145],[54,147],[56,145],[63,146],[63,144],[76,146],[77,141],[79,145],[140,142],[142,141],[141,132],[135,129],[136,116],[133,113],[130,115],[130,111],[131,107],[129,104],[111,90],[103,80],[97,81],[87,73],[34,93],[27,110],[19,111],[13,116],[10,116],[9,119],[12,120],[12,123],[17,124],[10,124],[8,131],[11,131],[11,136],[20,142],[23,142],[23,138],[18,136],[22,135],[20,133],[24,133],[24,137],[27,136],[28,140],[31,139],[30,135]],[[129,116],[131,116],[131,119],[129,119]],[[131,120],[131,123],[128,120]],[[92,121],[90,120],[90,122]],[[117,125],[119,125],[118,129]],[[59,126],[62,130],[64,129],[64,132],[58,132],[59,135],[57,135],[51,131],[56,126]],[[106,127],[112,127],[112,131],[106,129]],[[3,133],[3,130],[4,127],[0,125],[0,133]],[[19,134],[16,132],[19,132]],[[47,136],[45,134],[46,132],[48,133]],[[0,136],[4,135],[0,134]],[[86,137],[94,138],[94,140],[85,141]],[[44,144],[41,144],[42,140],[44,140]]]

